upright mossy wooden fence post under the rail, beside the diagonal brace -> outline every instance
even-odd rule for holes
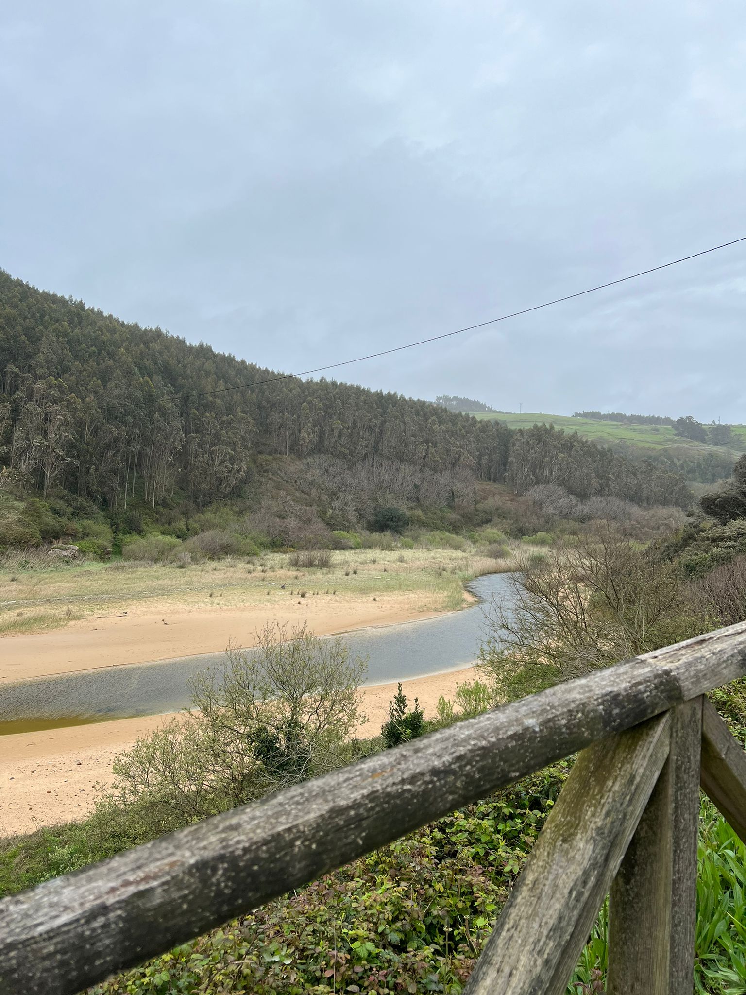
[[[691,995],[702,698],[671,709],[670,753],[611,891],[608,995]]]

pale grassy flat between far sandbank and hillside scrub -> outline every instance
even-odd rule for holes
[[[334,603],[376,597],[414,611],[454,611],[468,605],[464,584],[485,573],[515,569],[513,543],[502,559],[483,556],[472,544],[461,549],[338,550],[331,564],[304,568],[303,583]],[[525,550],[525,545],[521,547]],[[58,629],[71,618],[119,611],[176,612],[213,607],[210,592],[220,590],[222,608],[280,605],[298,579],[291,555],[267,553],[253,573],[246,558],[229,556],[195,563],[152,563],[130,559],[59,565],[42,557],[24,566],[24,555],[0,560],[0,635]],[[334,590],[334,595],[324,594]],[[66,615],[70,606],[74,615]],[[16,612],[23,611],[24,617]]]

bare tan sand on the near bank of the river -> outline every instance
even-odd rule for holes
[[[65,634],[53,635],[59,639]],[[34,637],[23,642],[29,638]],[[453,697],[458,685],[473,677],[473,668],[468,668],[403,681],[402,687],[410,700],[419,697],[428,715],[441,695]],[[396,687],[394,683],[363,688],[367,721],[360,728],[362,735],[380,731]],[[116,754],[169,717],[148,715],[0,737],[0,836],[84,818],[93,808],[95,783],[110,780]]]

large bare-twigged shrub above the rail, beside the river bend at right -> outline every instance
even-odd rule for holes
[[[674,564],[616,526],[521,557],[493,600],[480,666],[503,699],[532,694],[712,628]],[[510,605],[510,608],[507,607]]]

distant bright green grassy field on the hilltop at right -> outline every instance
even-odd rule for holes
[[[679,439],[674,435],[670,425],[631,425],[628,422],[597,422],[590,418],[574,418],[570,415],[546,415],[541,413],[526,412],[516,414],[497,414],[493,412],[477,412],[474,418],[479,420],[501,421],[511,429],[530,429],[532,425],[540,425],[550,422],[557,428],[564,429],[565,432],[577,432],[584,439],[591,439],[594,442],[609,445],[610,443],[627,443],[632,446],[644,446],[648,449],[660,450],[677,449],[686,450],[692,455],[705,453],[707,450],[714,450],[718,453],[726,452],[723,447],[708,446],[705,443],[694,442],[691,439]],[[737,438],[737,444],[732,452],[746,451],[746,425],[734,425],[733,435]]]

